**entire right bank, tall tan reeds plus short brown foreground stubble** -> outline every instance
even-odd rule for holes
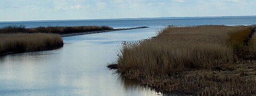
[[[255,95],[256,63],[244,60],[255,36],[247,26],[169,26],[156,37],[124,42],[117,68],[158,91]]]

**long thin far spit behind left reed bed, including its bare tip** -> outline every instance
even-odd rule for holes
[[[95,34],[95,33],[106,33],[109,31],[120,31],[120,30],[132,30],[149,28],[147,26],[132,27],[132,28],[117,28],[114,29],[109,26],[73,26],[73,27],[36,27],[26,28],[25,26],[7,26],[0,28],[0,34],[15,34],[15,33],[47,33],[47,34],[59,34],[62,37],[84,35],[84,34]]]

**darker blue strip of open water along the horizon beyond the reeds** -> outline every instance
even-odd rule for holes
[[[81,20],[81,21],[34,21],[34,22],[0,22],[0,27],[10,25],[25,25],[26,27],[38,26],[111,26],[114,28],[150,26],[159,27],[166,25],[252,25],[256,18],[220,18],[220,19],[158,19],[158,20]]]

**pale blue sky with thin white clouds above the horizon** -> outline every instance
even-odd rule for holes
[[[0,21],[256,15],[256,0],[1,0]]]

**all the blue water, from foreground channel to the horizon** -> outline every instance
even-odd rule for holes
[[[11,54],[0,58],[0,95],[157,95],[154,90],[119,77],[106,65],[117,60],[122,41],[155,36],[166,25],[251,25],[256,18],[15,22],[8,25],[82,26],[146,29],[64,37],[62,49]]]

